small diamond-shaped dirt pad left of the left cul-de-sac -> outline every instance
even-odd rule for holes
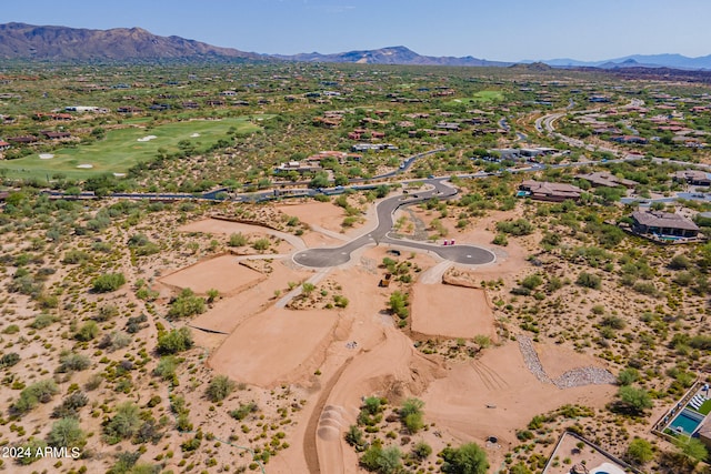
[[[264,276],[261,273],[240,265],[234,255],[220,255],[179,270],[160,281],[180,289],[189,288],[197,294],[206,294],[214,289],[221,295],[230,296],[262,279]]]

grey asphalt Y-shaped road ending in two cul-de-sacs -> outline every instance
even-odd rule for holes
[[[368,245],[387,243],[409,249],[427,250],[437,253],[445,260],[457,263],[484,264],[494,261],[495,256],[490,251],[474,245],[433,245],[424,242],[393,239],[388,235],[392,230],[392,215],[401,206],[411,205],[427,201],[430,198],[445,199],[457,194],[457,190],[444,184],[445,178],[424,180],[431,184],[432,190],[418,192],[411,198],[408,195],[395,195],[381,201],[377,208],[378,226],[344,245],[328,249],[310,249],[298,252],[293,255],[293,261],[303,266],[327,268],[337,266],[351,260],[353,251]]]

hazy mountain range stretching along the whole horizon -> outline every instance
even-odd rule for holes
[[[140,60],[287,60],[304,62],[352,62],[368,64],[419,64],[458,67],[509,67],[512,62],[489,61],[467,56],[421,56],[402,47],[348,51],[334,54],[318,52],[293,56],[259,54],[233,48],[220,48],[171,36],[160,37],[141,28],[91,30],[67,27],[0,24],[0,59],[43,61],[140,61]],[[681,54],[635,54],[603,61],[552,59],[520,61],[544,63],[553,68],[673,68],[711,70],[711,54],[688,58]]]

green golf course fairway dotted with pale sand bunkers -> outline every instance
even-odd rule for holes
[[[10,178],[40,180],[51,178],[56,173],[74,180],[103,173],[126,173],[132,165],[154,159],[159,148],[173,153],[180,150],[179,142],[188,140],[198,151],[204,151],[220,139],[231,141],[228,134],[231,128],[239,134],[251,133],[260,129],[256,124],[260,119],[267,120],[271,117],[192,120],[148,129],[130,127],[109,130],[106,138],[98,142],[48,152],[54,155],[51,159],[42,160],[39,153],[33,153],[18,160],[0,161],[0,170],[4,170],[6,175]],[[196,134],[198,137],[194,137]],[[156,138],[139,141],[150,135]],[[87,167],[89,164],[91,168]]]

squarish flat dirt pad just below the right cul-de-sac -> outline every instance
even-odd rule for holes
[[[443,337],[489,336],[497,341],[485,290],[417,284],[412,291],[412,331]]]

